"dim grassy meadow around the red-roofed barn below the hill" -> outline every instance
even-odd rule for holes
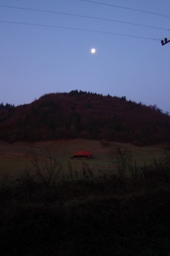
[[[30,160],[36,155],[40,161],[45,160],[44,154],[50,152],[59,157],[63,163],[63,171],[67,173],[68,162],[70,161],[73,171],[81,175],[82,162],[87,163],[94,173],[116,172],[116,165],[113,166],[108,160],[108,151],[121,145],[126,146],[133,155],[133,160],[137,166],[144,163],[149,165],[153,158],[160,159],[164,154],[156,146],[136,147],[133,144],[110,142],[109,147],[103,147],[98,140],[51,140],[35,143],[16,142],[8,144],[0,141],[0,178],[8,172],[11,179],[15,179],[23,172],[26,165],[30,166]],[[71,159],[76,150],[89,150],[93,154],[93,159],[74,160]]]

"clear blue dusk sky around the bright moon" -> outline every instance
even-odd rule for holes
[[[170,112],[170,43],[161,45],[161,39],[170,40],[169,0],[0,0],[0,5],[0,21],[12,22],[0,22],[0,103],[23,105],[45,93],[77,89],[126,96]]]

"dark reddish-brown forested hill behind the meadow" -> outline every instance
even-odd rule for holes
[[[170,142],[170,116],[154,106],[72,90],[0,109],[0,140],[82,138],[149,145]]]

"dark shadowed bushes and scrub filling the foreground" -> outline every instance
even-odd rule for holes
[[[34,157],[34,173],[26,168],[10,184],[4,177],[2,255],[170,255],[169,151],[163,160],[140,169],[129,153],[117,148],[119,168],[114,175],[95,177],[84,163],[80,178],[69,164],[68,175],[58,179],[61,163],[50,154],[43,165]]]

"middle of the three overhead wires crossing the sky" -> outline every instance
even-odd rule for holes
[[[45,10],[39,10],[39,9],[29,9],[29,8],[14,7],[14,6],[4,6],[4,5],[0,5],[0,7],[13,8],[13,9],[22,9],[22,10],[29,10],[29,11],[36,11],[36,12],[47,12],[47,13],[54,13],[54,14],[61,14],[61,15],[77,16],[77,17],[85,17],[85,18],[91,18],[91,19],[96,19],[96,20],[106,20],[106,21],[112,21],[112,22],[117,22],[117,23],[124,23],[124,24],[129,24],[129,25],[143,26],[143,27],[148,27],[148,28],[152,28],[152,29],[161,29],[161,30],[170,31],[170,29],[164,29],[164,28],[159,28],[159,27],[155,27],[155,26],[148,26],[148,25],[142,25],[142,24],[137,24],[137,23],[130,23],[130,22],[126,22],[126,21],[111,20],[111,19],[85,16],[85,15],[70,14],[70,13],[65,13],[65,12],[53,12],[53,11],[45,11]]]

